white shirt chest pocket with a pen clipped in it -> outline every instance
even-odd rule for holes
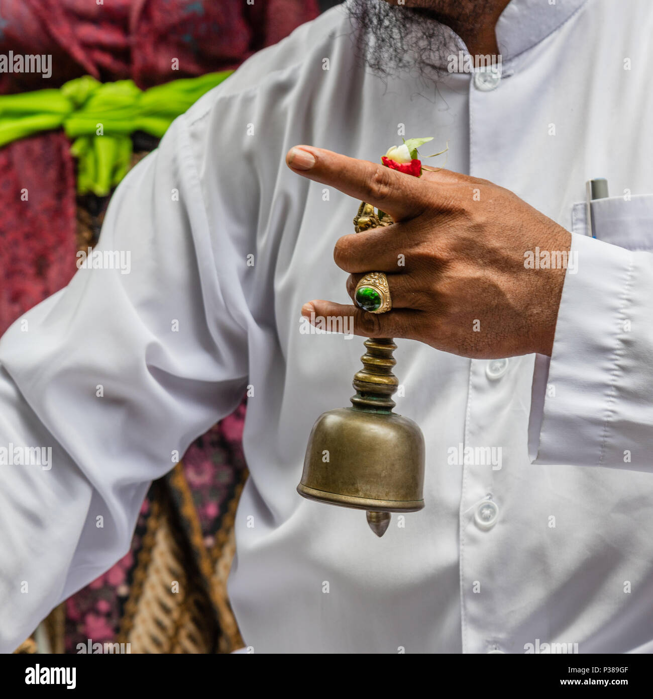
[[[594,236],[626,250],[653,250],[653,194],[636,194],[626,201],[610,196],[592,201]],[[587,225],[587,205],[573,205],[571,230],[582,236],[592,235]]]

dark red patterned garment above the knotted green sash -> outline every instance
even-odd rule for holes
[[[52,55],[52,78],[3,73],[0,92],[84,73],[151,87],[236,68],[317,15],[317,0],[0,0],[0,53]]]

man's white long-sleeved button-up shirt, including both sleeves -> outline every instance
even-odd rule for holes
[[[0,466],[0,649],[127,551],[149,481],[249,385],[228,591],[254,652],[653,651],[652,26],[646,0],[513,0],[501,79],[435,87],[362,70],[335,8],[180,117],[110,204],[98,250],[129,273],[81,269],[1,340],[0,447],[51,446],[52,468]],[[363,348],[300,332],[305,301],[348,303],[332,250],[358,202],[284,156],[378,160],[398,124],[573,230],[578,273],[550,366],[397,340],[425,509],[379,539],[295,491]],[[585,235],[601,176],[608,243]],[[459,445],[501,447],[501,468],[448,463]]]

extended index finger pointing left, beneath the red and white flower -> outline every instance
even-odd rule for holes
[[[286,164],[298,175],[336,187],[354,199],[382,209],[395,221],[416,217],[427,207],[424,182],[369,160],[311,145],[295,145],[286,154]]]

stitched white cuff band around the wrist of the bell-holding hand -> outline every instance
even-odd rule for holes
[[[615,384],[622,373],[633,254],[572,234],[550,359],[536,355],[529,458],[537,464],[603,465]]]

